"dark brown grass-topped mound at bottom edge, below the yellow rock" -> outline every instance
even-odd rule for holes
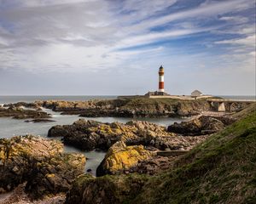
[[[119,204],[132,199],[142,190],[148,178],[141,175],[119,175],[93,178],[80,175],[67,192],[66,204]]]

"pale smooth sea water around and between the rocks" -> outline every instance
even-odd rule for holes
[[[59,99],[59,100],[88,100],[88,99],[114,99],[115,96],[0,96],[0,104],[15,103],[18,101],[33,102],[35,100]],[[61,115],[60,112],[54,112],[49,109],[44,109],[52,115],[52,120],[55,122],[24,122],[25,120],[15,120],[10,117],[0,117],[0,138],[11,138],[14,135],[24,135],[27,133],[47,137],[50,127],[55,125],[68,125],[79,120],[79,118],[92,119],[100,122],[128,122],[133,118],[124,117],[79,117]],[[133,119],[134,120],[134,119]],[[139,120],[154,122],[163,126],[168,126],[173,122],[181,122],[181,118],[140,118]],[[67,152],[80,152],[83,153],[88,160],[86,161],[85,171],[91,169],[92,173],[96,173],[96,167],[100,164],[105,156],[104,152],[90,151],[84,152],[74,147],[65,145]]]

